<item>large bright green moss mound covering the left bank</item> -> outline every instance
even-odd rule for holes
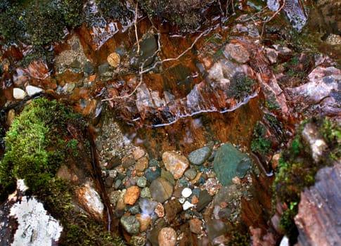
[[[27,105],[5,136],[1,198],[13,192],[16,179],[25,179],[27,193],[44,202],[47,211],[63,225],[58,245],[122,245],[120,238],[75,206],[75,185],[56,176],[61,165],[82,159],[80,151],[82,157],[90,155],[89,144],[79,141],[85,126],[82,116],[57,101],[38,98]]]

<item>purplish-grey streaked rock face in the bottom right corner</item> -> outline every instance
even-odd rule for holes
[[[341,162],[321,169],[315,186],[301,193],[295,224],[299,245],[340,245]]]

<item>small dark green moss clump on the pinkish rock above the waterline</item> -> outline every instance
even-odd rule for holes
[[[242,100],[252,92],[252,85],[256,82],[254,79],[247,77],[243,72],[238,72],[231,78],[231,85],[228,96],[236,100]]]

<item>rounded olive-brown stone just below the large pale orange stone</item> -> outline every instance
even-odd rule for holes
[[[157,178],[150,184],[150,194],[157,202],[165,202],[173,193],[173,186],[166,179]]]

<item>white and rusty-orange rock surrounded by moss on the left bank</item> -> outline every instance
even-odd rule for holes
[[[82,187],[77,187],[76,194],[79,203],[87,212],[99,220],[103,218],[104,205],[100,195],[90,183],[86,183]]]

